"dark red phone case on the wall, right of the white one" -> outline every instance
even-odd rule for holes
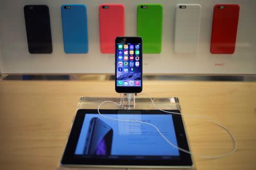
[[[210,53],[234,53],[236,48],[239,10],[239,5],[235,4],[218,4],[214,6]]]

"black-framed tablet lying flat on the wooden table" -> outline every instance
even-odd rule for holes
[[[64,167],[191,168],[190,154],[168,144],[155,125],[175,146],[189,150],[183,119],[159,110],[77,111],[61,165]],[[172,110],[171,112],[180,113]],[[106,118],[108,117],[108,118]],[[113,120],[125,120],[117,121]]]

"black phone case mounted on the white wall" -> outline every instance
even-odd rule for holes
[[[52,53],[51,23],[46,5],[24,6],[28,52]]]

